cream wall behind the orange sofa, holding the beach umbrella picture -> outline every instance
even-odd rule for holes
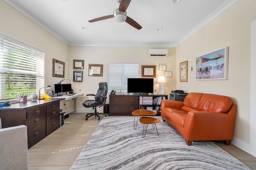
[[[251,143],[252,133],[255,131],[250,126],[250,96],[255,93],[250,91],[250,32],[251,22],[255,19],[256,1],[240,0],[176,47],[176,66],[187,60],[189,66],[188,82],[180,82],[176,75],[176,88],[231,97],[238,105],[232,143],[251,154],[255,145],[255,142]],[[196,57],[226,46],[229,47],[228,79],[196,80]],[[179,67],[176,67],[176,73],[178,71]]]

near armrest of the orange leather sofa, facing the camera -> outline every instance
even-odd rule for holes
[[[236,106],[235,106],[236,107]],[[190,111],[185,120],[184,138],[186,140],[232,140],[236,112],[214,113]]]

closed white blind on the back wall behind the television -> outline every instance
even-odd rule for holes
[[[139,77],[139,63],[108,63],[108,89],[127,91],[127,78]]]

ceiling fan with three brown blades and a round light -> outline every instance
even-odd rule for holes
[[[134,21],[132,18],[127,16],[126,9],[128,8],[131,0],[117,0],[119,3],[119,8],[114,10],[112,15],[102,16],[100,18],[95,18],[93,20],[89,20],[88,22],[96,22],[101,20],[106,20],[108,18],[114,18],[117,22],[127,22],[134,28],[140,30],[142,26],[138,24],[136,21]]]

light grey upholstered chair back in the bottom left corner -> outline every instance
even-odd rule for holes
[[[0,119],[0,127],[2,127]],[[28,137],[27,127],[0,128],[0,169],[28,169]]]

